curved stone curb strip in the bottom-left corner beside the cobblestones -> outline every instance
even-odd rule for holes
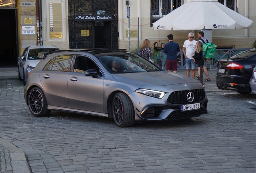
[[[19,149],[12,143],[0,138],[0,145],[7,149],[10,153],[10,162],[13,173],[31,173],[27,157],[22,149]]]

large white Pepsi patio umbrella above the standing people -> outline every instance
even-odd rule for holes
[[[252,28],[252,20],[218,0],[187,0],[153,24],[153,30],[200,30]]]

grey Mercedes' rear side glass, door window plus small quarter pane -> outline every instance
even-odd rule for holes
[[[63,55],[52,58],[43,70],[70,71],[72,55]]]

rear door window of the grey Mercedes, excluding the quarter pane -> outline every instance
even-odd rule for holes
[[[70,71],[71,59],[72,56],[70,55],[57,56],[52,65],[52,70]]]

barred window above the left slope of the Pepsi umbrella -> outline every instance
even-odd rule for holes
[[[155,21],[180,7],[182,3],[183,0],[151,0],[151,27]]]

